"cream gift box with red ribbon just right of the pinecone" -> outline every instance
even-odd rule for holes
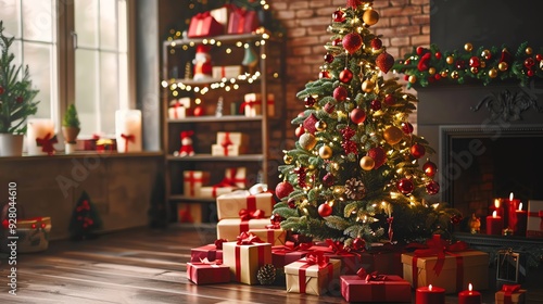
[[[287,292],[321,295],[331,290],[334,279],[339,279],[339,259],[326,258],[328,263],[311,264],[311,255],[308,253],[306,257],[285,266]]]

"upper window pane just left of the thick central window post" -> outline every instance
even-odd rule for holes
[[[52,21],[56,21],[52,0],[25,0],[23,2],[23,37],[25,40],[52,41]]]

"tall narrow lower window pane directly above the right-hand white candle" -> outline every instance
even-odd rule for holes
[[[115,134],[115,111],[118,110],[118,62],[116,53],[102,52],[100,58],[100,115],[102,131]]]

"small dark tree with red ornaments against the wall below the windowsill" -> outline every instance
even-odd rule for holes
[[[96,231],[101,228],[102,219],[100,218],[100,214],[87,191],[83,191],[72,212],[70,233],[75,240],[89,239],[96,237]]]

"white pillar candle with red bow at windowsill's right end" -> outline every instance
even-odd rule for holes
[[[117,152],[141,151],[141,111],[117,110],[115,112],[115,138]]]

